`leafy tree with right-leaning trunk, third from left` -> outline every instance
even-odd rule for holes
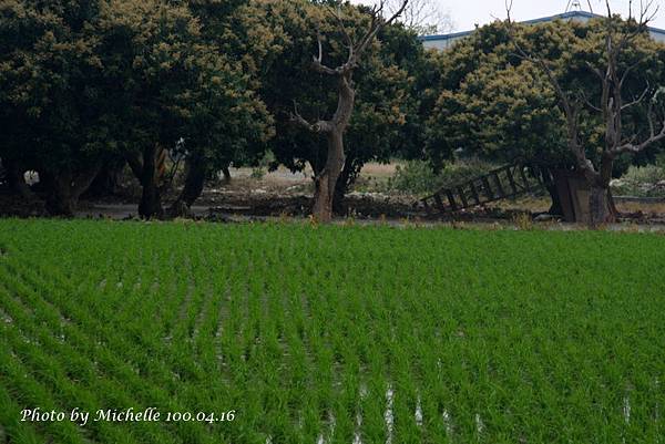
[[[191,0],[190,9],[223,66],[215,86],[194,101],[197,118],[180,145],[186,158],[185,186],[172,216],[188,213],[214,173],[227,171],[232,162],[257,162],[274,134],[272,115],[255,93],[263,66],[277,56],[265,9],[248,0]]]

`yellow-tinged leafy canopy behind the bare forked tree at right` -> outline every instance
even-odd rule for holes
[[[589,23],[554,21],[516,27],[516,41],[529,54],[551,65],[562,87],[573,95],[583,92],[590,104],[600,106],[601,84],[591,68],[603,69],[606,20]],[[628,28],[626,22],[618,27]],[[572,164],[566,146],[566,123],[559,99],[545,74],[518,55],[505,23],[480,28],[469,39],[456,43],[439,56],[440,96],[429,121],[430,157],[441,164],[456,149],[501,162],[514,158]],[[651,94],[663,84],[665,47],[647,34],[626,47],[620,60],[623,73],[632,66],[624,85],[624,100],[638,97],[646,86]],[[625,114],[626,134],[644,136],[648,132],[646,105]],[[596,161],[602,153],[605,127],[602,116],[586,106],[580,117],[582,143],[587,156]],[[661,146],[654,146],[652,156]],[[617,162],[617,173],[630,164]]]

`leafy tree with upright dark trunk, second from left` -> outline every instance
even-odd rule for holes
[[[183,6],[111,0],[101,27],[105,76],[115,85],[109,105],[120,123],[120,149],[143,190],[139,213],[160,217],[157,158],[182,138],[192,96],[200,92],[196,80],[209,58],[198,23]]]

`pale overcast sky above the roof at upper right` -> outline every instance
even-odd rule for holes
[[[487,24],[493,17],[505,18],[504,0],[433,0],[444,11],[449,11],[456,31],[469,31],[478,24]],[[375,0],[351,0],[352,3],[371,4]],[[513,0],[513,18],[515,20],[539,19],[554,16],[565,11],[567,0]],[[587,1],[581,0],[583,9],[589,10]],[[611,0],[610,3],[617,12],[627,14],[628,0]],[[633,3],[640,4],[640,0]],[[661,7],[657,18],[652,27],[665,29],[665,0],[656,0]],[[591,6],[596,13],[605,11],[604,0],[591,0]],[[637,7],[638,8],[638,7]]]

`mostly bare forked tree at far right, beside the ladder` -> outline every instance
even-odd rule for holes
[[[652,4],[641,4],[638,19],[628,17],[624,22],[612,13],[606,0],[607,17],[601,21],[600,35],[592,31],[584,41],[575,42],[571,63],[584,63],[586,72],[595,76],[595,87],[591,91],[581,72],[567,82],[565,75],[560,79],[546,59],[525,52],[512,33],[510,8],[508,10],[512,43],[524,60],[545,75],[565,115],[567,148],[590,189],[587,221],[592,226],[614,220],[610,180],[616,158],[640,154],[665,140],[665,110],[661,97],[665,87],[656,83],[652,90],[649,84],[649,74],[659,71],[657,50],[645,48],[651,41]],[[658,82],[658,78],[654,80]],[[635,82],[642,93],[635,91]],[[587,113],[583,112],[585,107],[590,110]],[[598,121],[601,131],[585,140],[585,126]],[[646,130],[641,125],[644,121]]]

